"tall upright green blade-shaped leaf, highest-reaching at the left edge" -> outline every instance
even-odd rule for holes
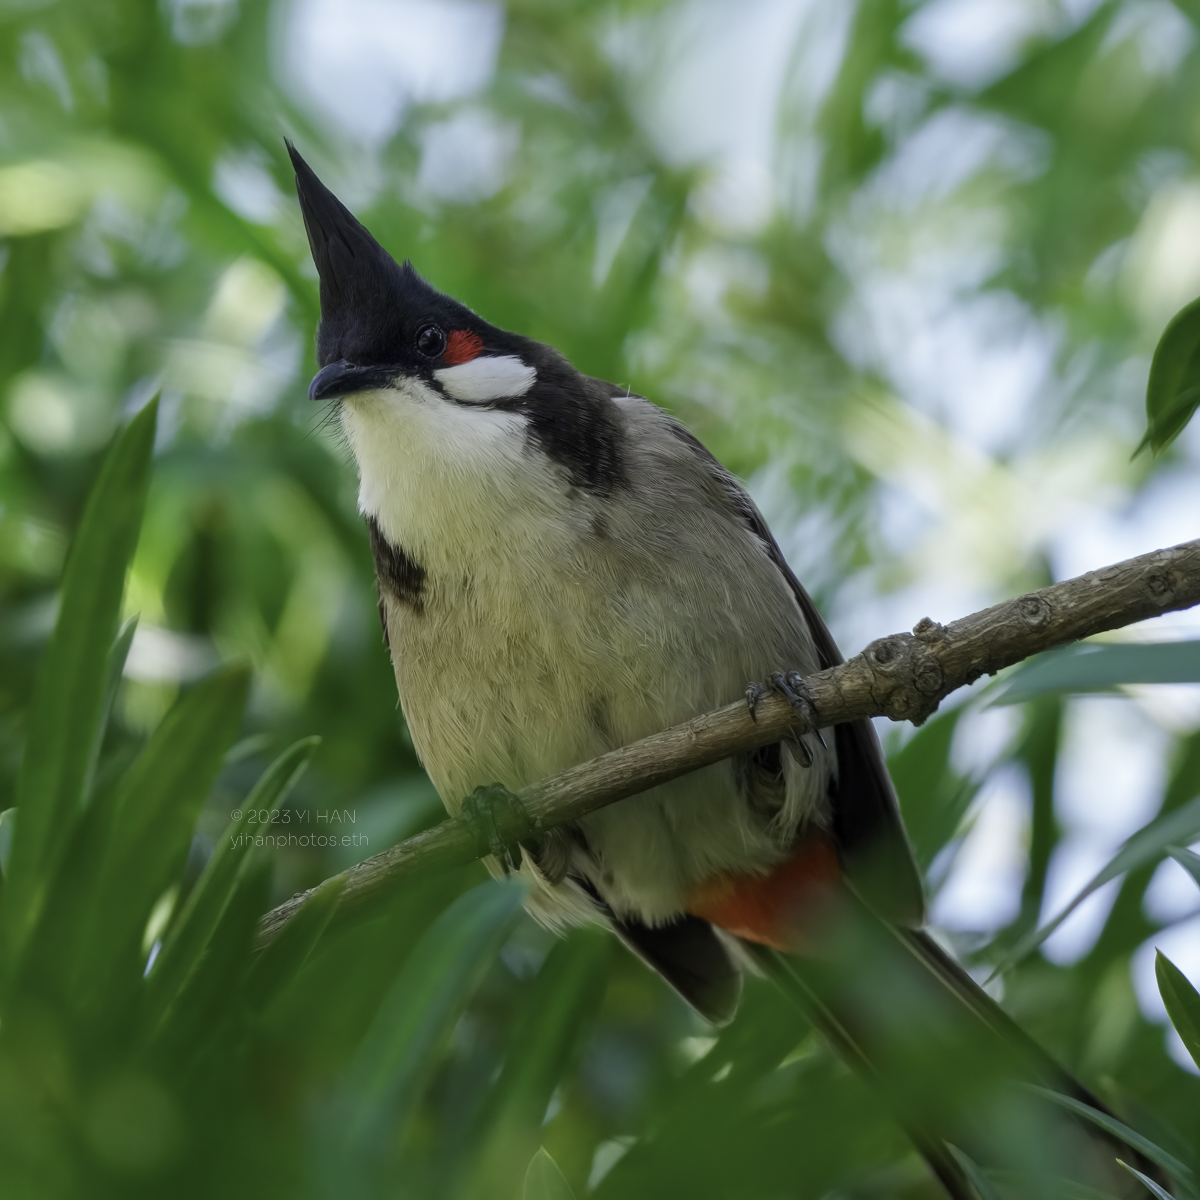
[[[156,415],[157,402],[151,401],[118,434],[88,497],[64,571],[59,617],[38,671],[17,780],[22,820],[0,918],[10,972],[85,800],[110,691],[125,572],[145,508]]]

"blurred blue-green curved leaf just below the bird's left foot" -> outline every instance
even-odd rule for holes
[[[455,900],[416,943],[348,1073],[353,1144],[378,1144],[383,1130],[403,1128],[524,894],[516,878],[482,883]]]

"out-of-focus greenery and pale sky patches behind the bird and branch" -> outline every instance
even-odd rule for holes
[[[1195,536],[1200,428],[1132,452],[1150,354],[1200,293],[1198,20],[1170,0],[0,4],[0,809],[101,451],[158,392],[113,755],[215,665],[253,666],[192,877],[305,734],[324,740],[289,804],[368,841],[281,853],[276,900],[438,818],[353,463],[306,398],[284,136],[434,286],[695,430],[847,653]],[[1117,636],[1196,635],[1182,614]],[[1200,791],[1200,689],[984,692],[916,739],[881,727],[935,923],[980,962]],[[450,1092],[551,944],[518,925]],[[1102,888],[1006,1000],[1194,1134],[1154,946],[1200,979],[1174,862]],[[628,956],[604,972],[545,1129],[580,1189],[712,1045]]]

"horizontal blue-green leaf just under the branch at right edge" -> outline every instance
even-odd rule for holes
[[[1024,662],[991,703],[1020,704],[1048,692],[1111,691],[1127,683],[1200,683],[1200,642],[1066,646]]]

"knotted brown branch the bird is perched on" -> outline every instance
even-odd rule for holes
[[[808,677],[817,725],[889,716],[916,725],[958,688],[1068,642],[1200,604],[1200,539],[1090,571],[949,625],[928,617],[911,634],[871,642],[841,666]],[[749,683],[749,680],[748,680]],[[518,793],[521,809],[500,806],[496,827],[512,844],[635,796],[709,763],[778,742],[796,713],[766,697],[751,720],[745,703],[664,730]],[[343,871],[341,911],[355,910],[401,878],[468,863],[488,853],[487,832],[464,818],[444,821]],[[259,943],[270,942],[311,893],[266,913]]]

